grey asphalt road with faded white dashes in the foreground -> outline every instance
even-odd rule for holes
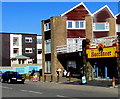
[[[0,85],[2,97],[118,97],[118,88],[66,85],[44,82]]]

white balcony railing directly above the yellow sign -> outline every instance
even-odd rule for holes
[[[104,44],[104,46],[112,46],[114,43],[118,42],[117,37],[118,37],[118,35],[102,37],[102,38],[95,38],[91,41],[90,45],[92,48],[96,48],[100,43]]]

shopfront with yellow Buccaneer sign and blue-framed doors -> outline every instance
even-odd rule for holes
[[[86,49],[93,78],[117,78],[117,46]]]

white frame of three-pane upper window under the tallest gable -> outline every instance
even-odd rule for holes
[[[72,22],[72,27],[68,27],[68,22]],[[79,22],[79,27],[76,27],[76,22]],[[83,22],[83,27],[80,26],[80,23]],[[85,29],[86,28],[86,22],[84,20],[79,20],[79,21],[67,21],[67,29]]]

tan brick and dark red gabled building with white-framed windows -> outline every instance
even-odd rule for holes
[[[117,34],[119,14],[115,16],[107,5],[91,14],[84,3],[80,3],[60,16],[43,20],[43,75],[56,76],[58,68],[80,74],[85,65],[84,39],[93,40]]]

